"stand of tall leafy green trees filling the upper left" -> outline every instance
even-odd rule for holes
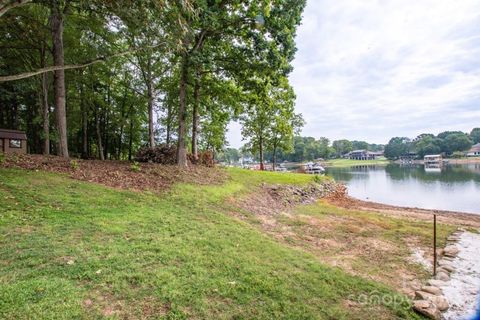
[[[304,0],[2,1],[0,127],[31,153],[131,159],[175,144],[218,152],[231,120],[256,150],[302,125],[288,83]]]

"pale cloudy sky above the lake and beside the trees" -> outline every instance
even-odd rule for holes
[[[296,43],[303,136],[387,143],[480,127],[478,0],[308,0]],[[239,124],[227,139],[243,145]]]

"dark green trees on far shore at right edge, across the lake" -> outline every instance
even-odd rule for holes
[[[392,160],[409,153],[418,158],[423,158],[427,154],[441,153],[455,156],[469,150],[476,143],[480,143],[480,128],[475,128],[470,133],[461,131],[444,131],[438,135],[424,133],[415,139],[394,137],[385,146],[385,156]]]

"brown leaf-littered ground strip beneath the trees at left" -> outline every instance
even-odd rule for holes
[[[55,156],[7,156],[1,167],[43,170],[63,173],[73,179],[130,189],[163,191],[174,183],[221,184],[227,179],[224,171],[191,165],[186,169],[177,166],[141,163],[133,168],[128,161],[70,160]]]

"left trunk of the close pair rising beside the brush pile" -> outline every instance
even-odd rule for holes
[[[187,79],[188,78],[188,56],[185,54],[182,59],[182,70],[180,77],[180,106],[178,110],[178,142],[177,142],[177,165],[187,167]]]

